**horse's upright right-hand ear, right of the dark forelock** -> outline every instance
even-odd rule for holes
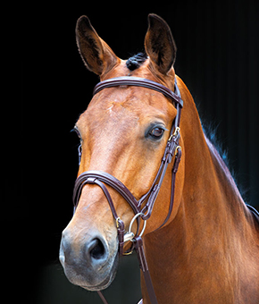
[[[148,15],[146,54],[159,72],[166,74],[175,62],[176,46],[168,24],[154,13]]]

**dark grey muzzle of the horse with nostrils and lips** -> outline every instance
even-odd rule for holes
[[[118,266],[118,242],[108,243],[97,231],[63,231],[59,259],[69,281],[89,291],[101,291],[113,282]]]

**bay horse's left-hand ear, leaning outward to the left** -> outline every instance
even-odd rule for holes
[[[118,63],[119,58],[97,35],[87,16],[81,16],[77,21],[76,39],[79,53],[89,71],[100,76],[109,72]]]

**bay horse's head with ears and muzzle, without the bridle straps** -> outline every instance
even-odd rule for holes
[[[121,60],[97,35],[88,17],[80,17],[76,39],[88,70],[99,75],[102,81],[132,76],[153,80],[173,91],[176,46],[171,30],[155,14],[150,14],[148,21],[146,55]],[[152,89],[118,86],[96,93],[75,125],[82,149],[78,174],[91,170],[109,173],[135,198],[142,198],[155,180],[176,115],[171,100]],[[183,180],[184,165],[180,165],[174,206],[167,224],[180,205]],[[171,165],[164,181],[144,238],[159,228],[168,215]],[[116,190],[106,187],[117,215],[125,229],[129,229],[134,216],[131,207]],[[140,226],[143,225],[143,221],[140,222]],[[132,228],[135,232],[136,223]],[[118,264],[117,227],[103,190],[94,184],[84,185],[80,192],[76,211],[63,231],[60,260],[71,283],[90,291],[103,290],[113,281]]]

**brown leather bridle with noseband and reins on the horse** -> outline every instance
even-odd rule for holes
[[[119,254],[129,255],[130,253],[133,252],[134,249],[136,250],[139,267],[142,270],[145,277],[146,289],[148,291],[149,299],[152,304],[157,304],[158,302],[155,297],[154,287],[146,263],[146,257],[145,257],[143,241],[141,239],[141,236],[146,227],[146,220],[152,214],[152,210],[155,205],[155,199],[157,198],[159,190],[162,186],[166,169],[168,165],[171,163],[172,158],[174,157],[174,163],[171,170],[171,200],[170,200],[169,211],[168,211],[168,215],[163,221],[163,224],[161,224],[160,227],[157,228],[157,230],[162,228],[163,225],[167,223],[167,221],[171,216],[173,200],[174,200],[175,176],[178,171],[178,167],[180,164],[180,157],[181,157],[181,148],[179,146],[179,140],[180,140],[180,113],[181,113],[181,108],[183,106],[183,101],[180,97],[180,90],[177,86],[176,79],[175,79],[175,92],[172,92],[171,89],[168,89],[162,84],[155,82],[153,80],[146,80],[144,78],[130,77],[130,76],[117,77],[110,80],[104,80],[99,82],[94,89],[93,95],[96,95],[102,89],[118,87],[118,86],[137,86],[137,87],[144,87],[147,89],[154,89],[162,93],[165,97],[170,98],[174,106],[176,107],[177,115],[171,126],[170,137],[167,141],[167,145],[163,153],[161,165],[158,169],[158,172],[156,173],[155,180],[151,188],[139,200],[132,195],[129,189],[122,182],[117,180],[113,175],[109,173],[104,173],[102,171],[96,171],[96,170],[81,173],[75,182],[75,186],[73,190],[74,212],[79,204],[81,191],[86,184],[95,184],[104,191],[105,198],[108,201],[108,204],[111,208],[113,217],[116,222],[116,227],[118,231],[118,241],[119,241]],[[129,224],[128,232],[125,232],[124,223],[122,222],[121,218],[117,215],[115,207],[113,205],[113,199],[111,198],[111,195],[105,185],[108,185],[117,192],[119,192],[121,194],[121,197],[128,202],[129,206],[132,208],[135,214],[135,216],[132,218]],[[140,218],[142,218],[142,220],[144,221],[141,232],[139,232]],[[138,229],[137,232],[134,234],[134,232],[131,232],[131,226],[135,220],[137,220]],[[131,241],[132,246],[128,251],[123,252],[124,243],[126,241]],[[107,301],[104,299],[102,293],[100,291],[98,291],[98,293],[101,299],[103,300],[104,304],[107,304]],[[141,301],[139,303],[141,303]]]

